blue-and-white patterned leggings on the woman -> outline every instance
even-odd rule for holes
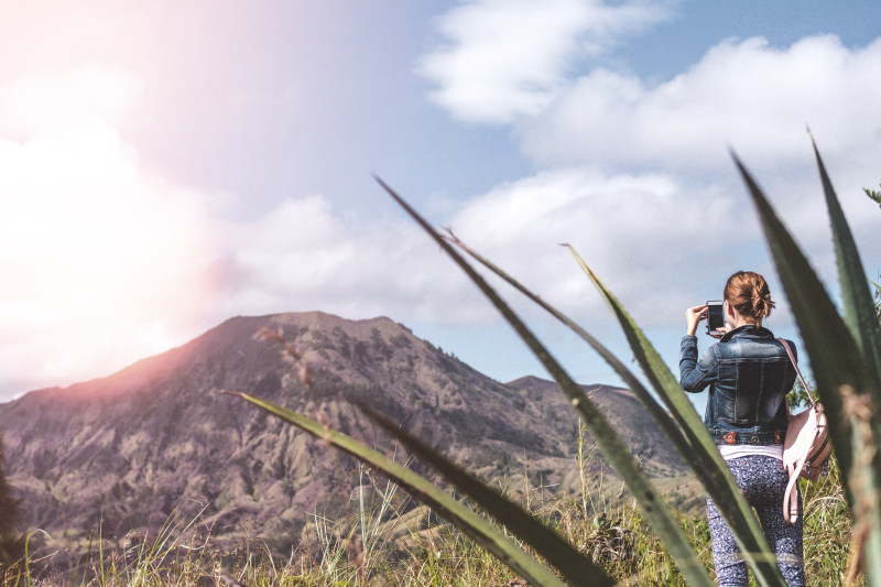
[[[798,494],[798,521],[790,524],[783,519],[783,493],[788,475],[782,463],[763,455],[751,455],[728,461],[737,485],[747,501],[759,513],[764,537],[777,555],[777,566],[788,587],[804,587],[805,567],[802,553],[802,494]],[[716,504],[707,499],[709,534],[713,540],[713,562],[716,581],[721,587],[746,586],[747,563],[740,554],[731,531],[719,515]]]

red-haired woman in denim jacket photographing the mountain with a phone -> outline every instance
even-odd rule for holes
[[[788,481],[783,468],[786,393],[795,382],[795,369],[783,345],[762,327],[762,319],[774,307],[762,275],[751,271],[731,275],[725,285],[724,305],[727,325],[716,335],[720,340],[699,360],[695,334],[698,323],[707,317],[707,306],[685,312],[679,383],[693,393],[709,387],[704,423],[747,501],[755,508],[786,585],[804,586],[801,494],[798,521],[790,524],[783,518]],[[795,354],[795,346],[787,343]],[[747,564],[710,499],[707,517],[718,585],[746,586]]]

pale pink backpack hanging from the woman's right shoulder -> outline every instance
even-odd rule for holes
[[[795,491],[798,477],[811,481],[819,479],[823,466],[829,458],[833,447],[826,430],[826,414],[823,412],[823,404],[814,400],[814,395],[811,394],[811,388],[807,387],[795,363],[790,345],[782,338],[777,338],[777,340],[786,349],[786,354],[795,367],[795,372],[798,373],[798,379],[811,400],[811,406],[807,410],[795,415],[790,414],[786,438],[783,442],[783,466],[790,474],[790,482],[783,496],[783,518],[794,524],[798,520],[798,492]],[[788,405],[786,410],[788,412]]]

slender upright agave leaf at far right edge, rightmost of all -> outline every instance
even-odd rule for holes
[[[841,284],[841,301],[845,309],[845,324],[867,358],[869,365],[868,376],[870,389],[878,392],[874,400],[881,402],[881,325],[878,322],[877,308],[866,271],[862,268],[853,235],[845,219],[845,214],[838,203],[838,197],[833,188],[833,183],[826,173],[826,165],[819,156],[819,150],[814,138],[811,138],[814,155],[817,160],[823,192],[826,195],[826,206],[833,227],[835,253],[838,260],[838,281]]]

